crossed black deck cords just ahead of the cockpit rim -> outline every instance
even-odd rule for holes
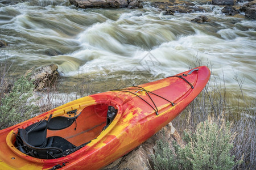
[[[158,107],[156,107],[156,105],[155,105],[154,101],[152,100],[150,94],[155,95],[155,96],[158,96],[158,97],[160,97],[160,98],[162,98],[162,99],[164,99],[164,100],[170,102],[170,103],[172,104],[172,106],[174,106],[174,105],[176,104],[176,103],[172,103],[170,100],[168,100],[168,99],[166,99],[166,98],[164,98],[164,97],[162,97],[162,96],[159,96],[159,95],[157,95],[157,94],[155,94],[155,93],[153,93],[153,92],[151,92],[151,91],[148,91],[148,90],[144,89],[143,87],[134,86],[134,85],[133,85],[133,87],[137,87],[137,88],[117,88],[117,89],[110,90],[110,91],[129,92],[130,94],[133,94],[133,95],[135,95],[135,96],[138,96],[140,99],[142,99],[142,100],[143,100],[144,102],[146,102],[148,105],[150,105],[150,107],[151,107],[152,109],[154,109],[156,115],[158,115]],[[154,107],[155,107],[155,108],[154,108],[150,103],[148,103],[148,101],[146,101],[145,99],[143,99],[141,96],[137,95],[137,92],[138,92],[138,91],[137,91],[137,92],[131,92],[131,91],[129,91],[129,90],[138,90],[138,91],[144,91],[144,92],[146,92],[147,96],[150,98],[150,100],[151,100],[152,103],[154,104]]]

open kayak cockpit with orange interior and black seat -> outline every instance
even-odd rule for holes
[[[121,105],[113,100],[106,101],[80,109],[71,107],[71,111],[57,116],[49,114],[47,120],[45,117],[26,128],[22,126],[13,133],[15,148],[11,148],[38,159],[57,159],[72,154],[108,131]]]

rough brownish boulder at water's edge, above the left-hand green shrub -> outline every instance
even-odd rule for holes
[[[44,90],[44,88],[46,87],[54,86],[57,77],[59,76],[59,72],[57,71],[57,69],[58,66],[52,64],[49,66],[44,66],[39,70],[35,71],[34,73],[32,73],[30,78],[36,86],[35,91],[41,91]],[[31,73],[32,70],[34,69],[28,70],[26,74]]]

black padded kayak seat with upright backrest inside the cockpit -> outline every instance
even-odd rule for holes
[[[26,129],[19,129],[19,136],[16,139],[18,149],[35,158],[55,159],[70,154],[76,148],[75,145],[62,137],[46,138],[47,125],[48,121],[43,120],[28,126]]]

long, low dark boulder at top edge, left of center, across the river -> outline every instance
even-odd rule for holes
[[[72,5],[75,5],[79,8],[142,8],[142,1],[139,0],[69,0]]]

